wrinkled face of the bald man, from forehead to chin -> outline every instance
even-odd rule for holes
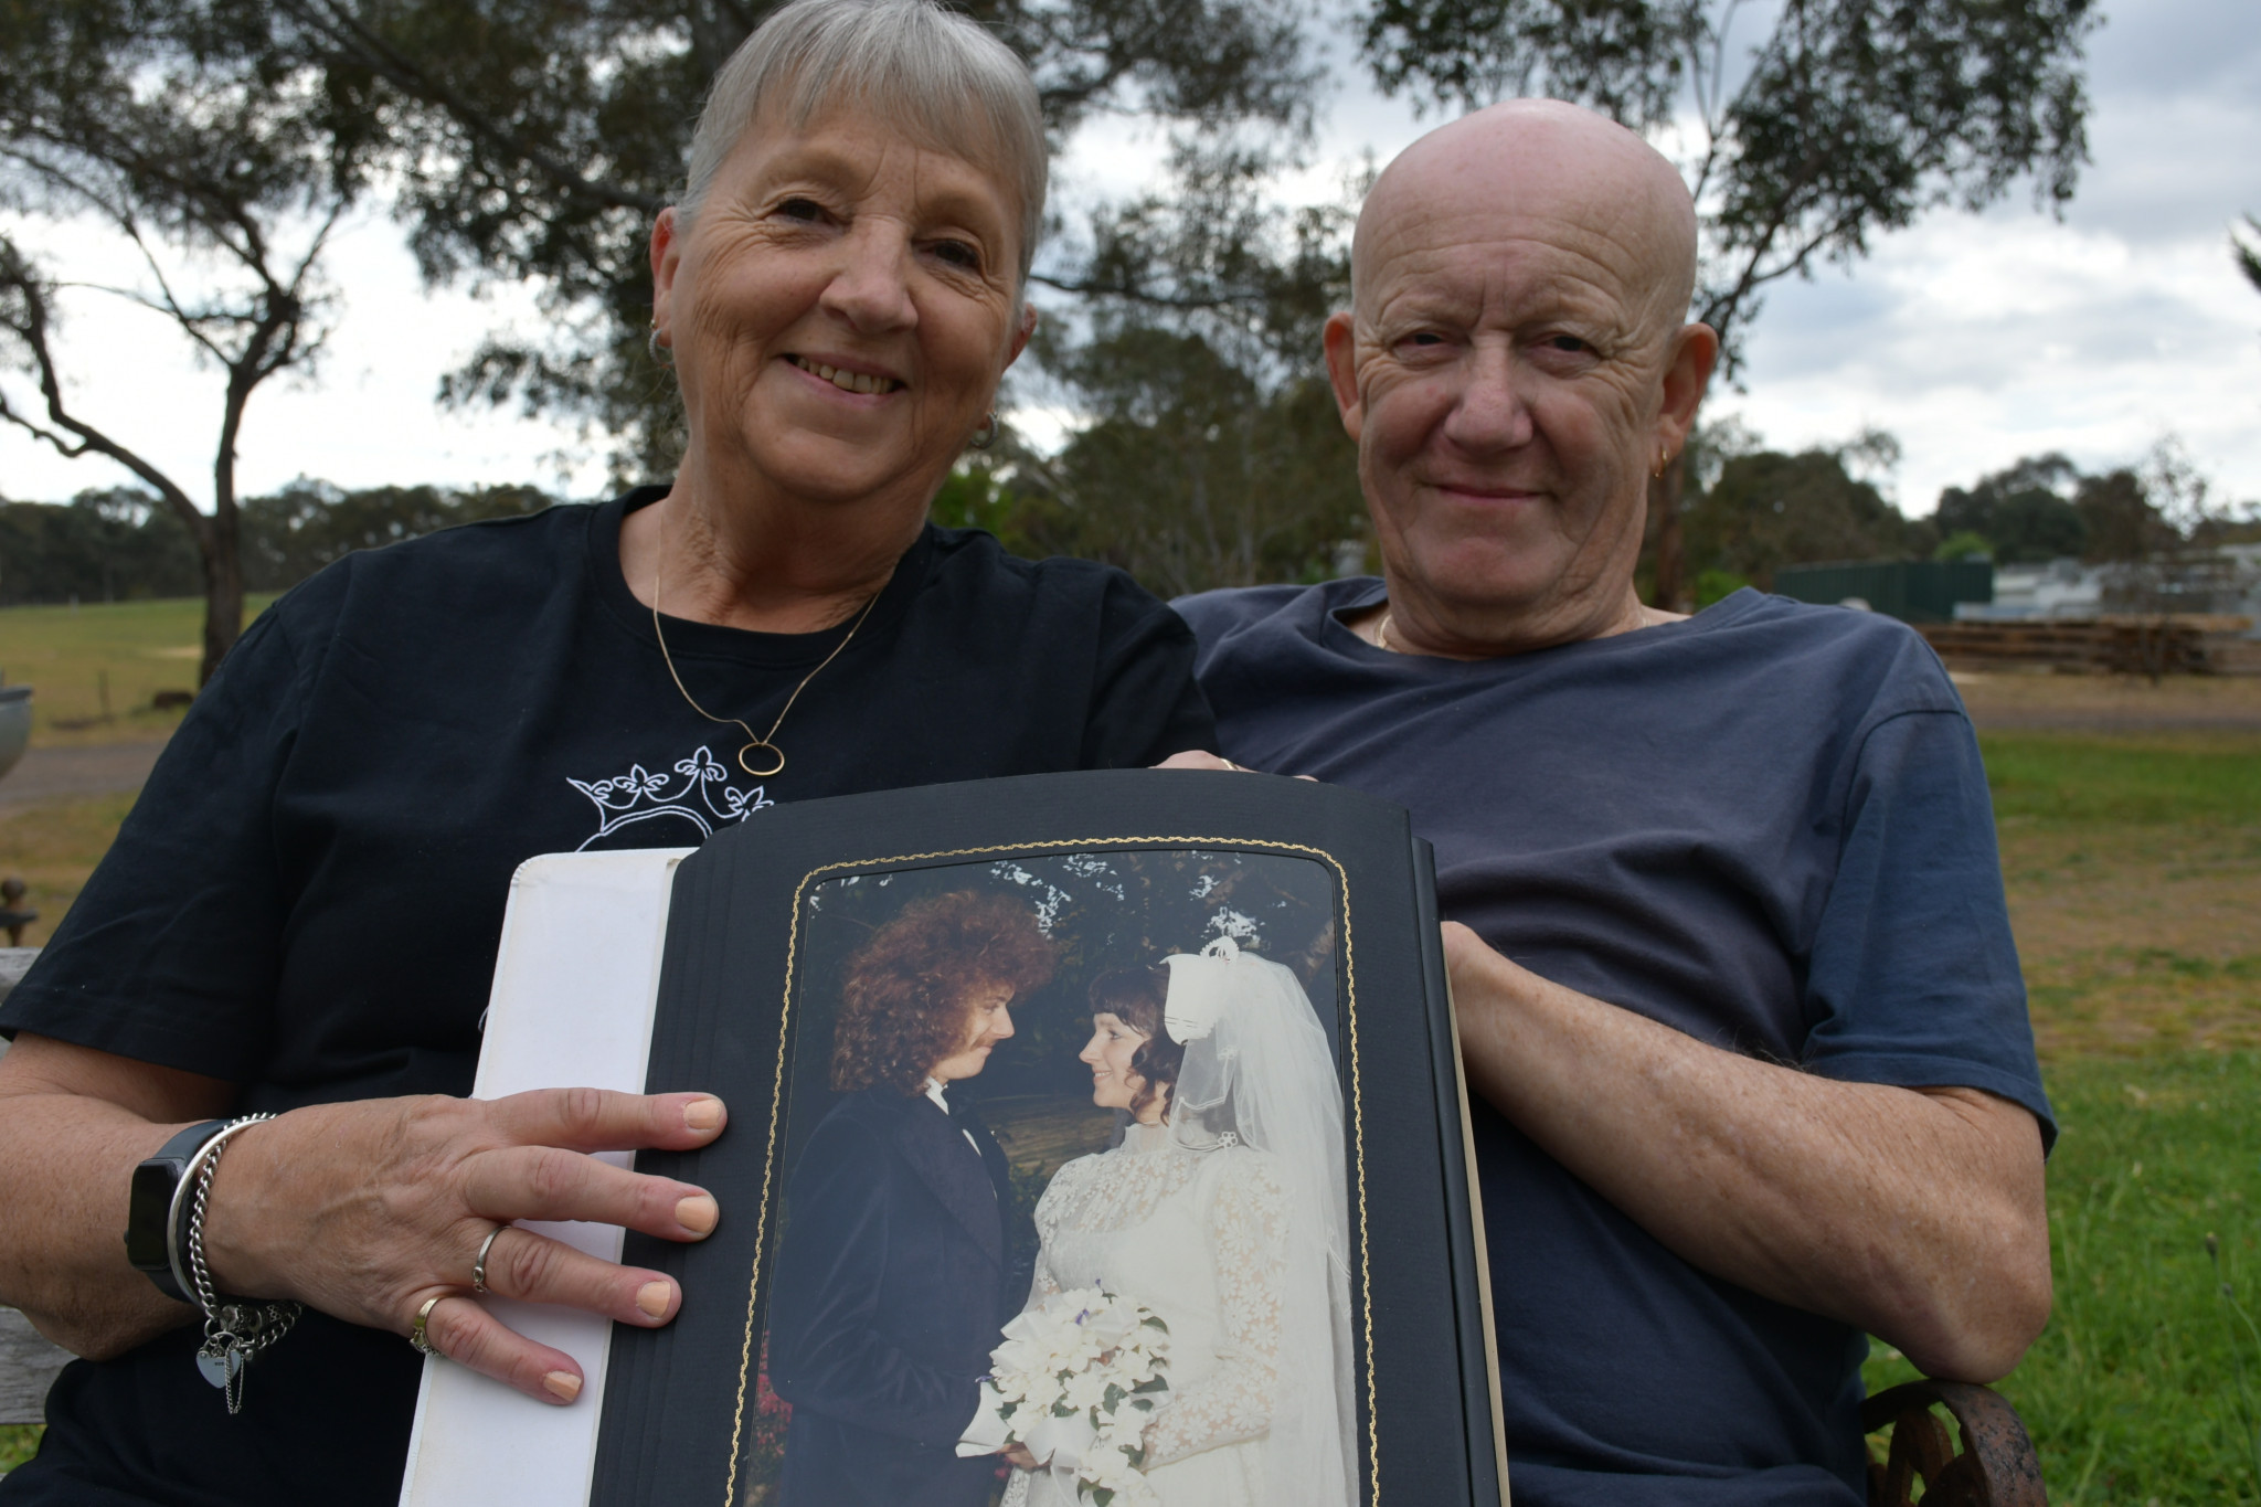
[[[1623,599],[1678,330],[1644,217],[1481,188],[1381,208],[1327,355],[1393,596],[1470,621]]]

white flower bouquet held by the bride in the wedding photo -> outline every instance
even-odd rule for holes
[[[1004,1326],[990,1365],[959,1455],[1020,1444],[1094,1507],[1158,1500],[1140,1471],[1169,1392],[1169,1324],[1153,1308],[1101,1288],[1056,1292]]]

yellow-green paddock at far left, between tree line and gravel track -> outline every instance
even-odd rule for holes
[[[244,599],[244,621],[271,594]],[[0,673],[29,682],[32,743],[161,737],[179,712],[154,712],[156,691],[192,691],[203,644],[203,599],[109,601],[77,608],[0,608]],[[97,721],[109,698],[111,721]],[[57,723],[93,723],[59,728]]]

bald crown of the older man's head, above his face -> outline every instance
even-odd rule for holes
[[[1413,221],[1499,210],[1599,235],[1626,253],[1644,325],[1678,330],[1696,291],[1696,203],[1664,156],[1626,127],[1560,99],[1510,99],[1438,127],[1375,178],[1350,249],[1366,312],[1377,262]]]

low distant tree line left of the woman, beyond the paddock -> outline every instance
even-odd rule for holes
[[[292,481],[240,506],[244,590],[283,592],[353,549],[554,502],[531,486]],[[194,540],[151,493],[120,486],[66,504],[0,502],[0,606],[201,596],[203,587]]]

